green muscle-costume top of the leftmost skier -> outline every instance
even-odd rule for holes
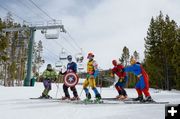
[[[52,70],[52,71],[48,71],[47,69],[43,72],[43,78],[44,79],[50,79],[50,80],[55,80],[57,79],[58,75],[57,73]]]

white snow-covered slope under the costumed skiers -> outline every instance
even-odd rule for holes
[[[53,84],[50,92],[56,97],[63,96],[62,84]],[[78,93],[82,85],[77,86]],[[42,83],[35,87],[0,87],[0,119],[164,119],[164,104],[70,104],[52,100],[31,100],[39,97],[43,90]],[[98,88],[100,91],[100,88]],[[70,91],[71,92],[71,91]],[[169,101],[180,104],[179,91],[156,91],[150,89],[156,101]],[[92,93],[92,92],[91,92]],[[127,89],[129,97],[136,97],[134,89]],[[93,94],[93,93],[92,93]],[[102,88],[102,97],[115,97],[115,88]],[[72,95],[72,93],[71,93]],[[84,92],[81,99],[85,98]]]

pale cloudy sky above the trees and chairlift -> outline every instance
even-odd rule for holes
[[[51,17],[62,20],[65,29],[83,49],[84,55],[86,56],[90,51],[94,52],[95,59],[103,69],[112,67],[112,59],[118,59],[121,56],[124,46],[129,48],[131,54],[135,50],[139,52],[140,61],[143,60],[144,38],[150,19],[152,16],[158,16],[160,11],[164,15],[168,14],[178,25],[180,24],[179,0],[33,1]],[[45,20],[49,20],[28,0],[0,0],[0,3],[27,21],[45,23]],[[0,7],[1,18],[5,17],[6,12]],[[16,17],[15,20],[22,23]],[[68,49],[71,52],[69,54],[75,55],[78,52],[78,48],[72,46],[74,43],[67,34],[61,34],[58,40],[53,41],[45,39],[37,31],[35,39],[42,40],[46,47],[43,54],[46,57],[46,63],[54,63],[58,60],[62,49],[59,44]]]

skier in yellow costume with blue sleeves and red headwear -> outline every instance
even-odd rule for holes
[[[96,101],[99,101],[101,99],[101,95],[96,88],[96,82],[95,82],[95,79],[98,76],[98,72],[99,72],[98,71],[98,64],[94,60],[94,54],[93,53],[88,53],[87,58],[89,59],[89,61],[87,63],[87,78],[83,83],[83,89],[86,93],[86,99],[85,100],[91,99],[91,94],[87,88],[90,85],[90,87],[92,88],[92,90],[94,91],[94,94],[96,96]]]

